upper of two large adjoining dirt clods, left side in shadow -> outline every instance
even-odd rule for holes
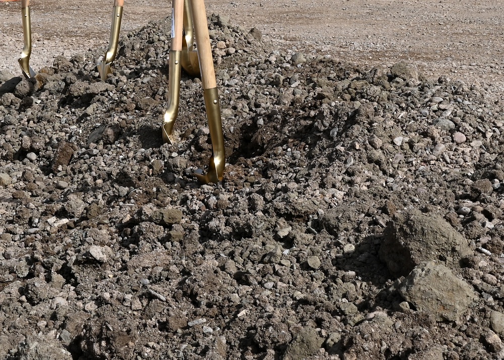
[[[459,268],[472,254],[466,239],[436,214],[418,210],[396,213],[387,223],[380,259],[394,276],[406,276],[418,264],[436,261]]]

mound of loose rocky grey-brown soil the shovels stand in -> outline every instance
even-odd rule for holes
[[[0,358],[488,359],[504,345],[502,101],[212,15],[162,144],[170,19],[0,73]]]

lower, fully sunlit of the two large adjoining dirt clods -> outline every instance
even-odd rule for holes
[[[416,267],[398,290],[416,310],[434,315],[437,321],[458,320],[476,297],[469,284],[433,262]]]

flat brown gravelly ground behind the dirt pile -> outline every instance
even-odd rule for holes
[[[108,43],[112,2],[82,5],[33,1],[32,67],[50,65]],[[170,2],[127,1],[122,31],[170,13]],[[0,70],[18,72],[22,48],[20,2],[0,3]],[[485,1],[224,1],[206,2],[207,13],[257,27],[266,41],[294,50],[320,50],[359,65],[416,63],[427,77],[449,75],[469,82],[504,83],[500,2]]]

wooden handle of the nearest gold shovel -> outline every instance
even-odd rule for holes
[[[200,61],[200,73],[203,89],[217,87],[215,81],[214,63],[212,60],[212,48],[208,33],[207,13],[203,0],[190,0],[193,10],[193,24],[198,44],[198,59]]]

